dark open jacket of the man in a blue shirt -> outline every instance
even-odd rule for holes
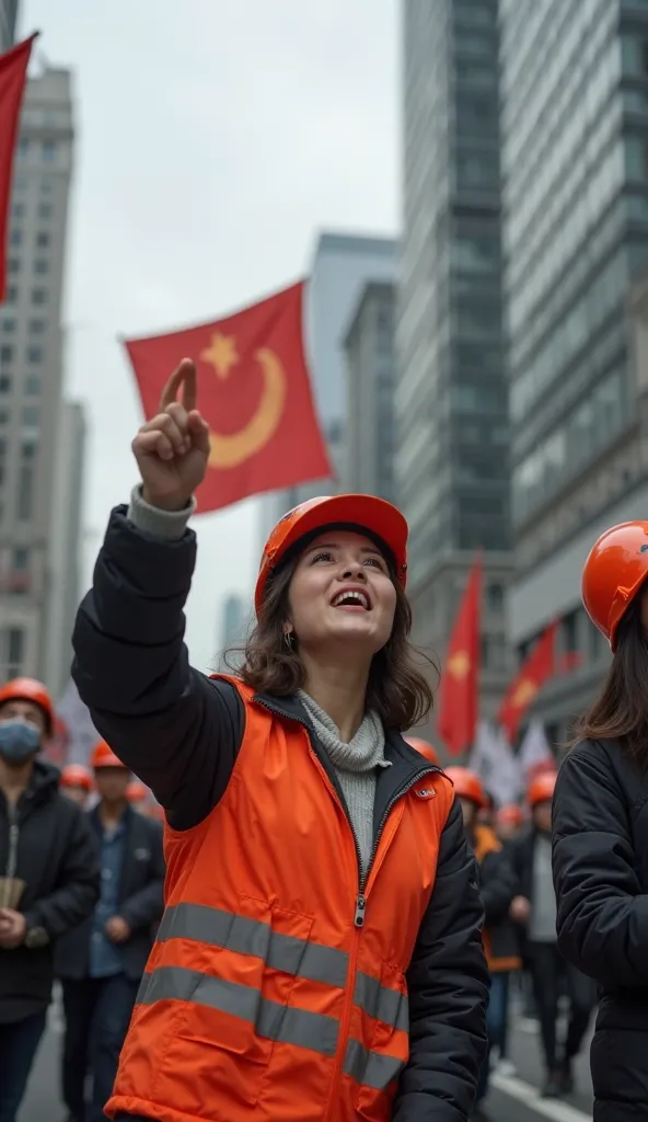
[[[101,838],[99,810],[90,811],[94,835]],[[165,861],[163,830],[129,807],[126,811],[124,859],[119,882],[119,912],[131,935],[120,944],[123,971],[133,982],[141,977],[152,947],[154,925],[164,911]],[[55,971],[58,978],[87,977],[92,917],[58,940]]]

